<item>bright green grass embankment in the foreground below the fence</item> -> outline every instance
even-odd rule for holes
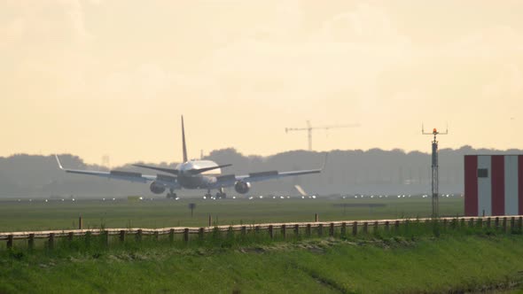
[[[523,236],[461,233],[1,251],[0,293],[408,293],[519,285]]]

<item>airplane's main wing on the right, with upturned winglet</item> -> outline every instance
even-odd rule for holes
[[[325,162],[327,161],[327,155],[325,154]],[[290,172],[278,172],[278,171],[267,171],[259,173],[251,173],[246,175],[234,175],[234,174],[225,174],[216,177],[216,186],[232,186],[237,181],[243,182],[262,182],[267,180],[274,180],[285,178],[288,176],[302,175],[302,174],[319,174],[324,170],[324,166],[318,169],[308,169],[308,170],[299,170],[299,171],[290,171]]]

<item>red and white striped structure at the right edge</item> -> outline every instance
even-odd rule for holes
[[[523,155],[464,156],[464,215],[523,214]]]

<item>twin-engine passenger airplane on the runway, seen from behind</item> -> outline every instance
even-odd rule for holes
[[[124,180],[129,182],[151,182],[150,190],[154,194],[162,194],[166,190],[168,198],[178,199],[175,190],[207,190],[204,198],[211,198],[211,190],[218,190],[215,194],[216,198],[225,198],[227,194],[224,189],[227,187],[234,187],[239,194],[246,194],[251,189],[252,182],[261,182],[272,179],[279,179],[287,176],[296,176],[302,174],[319,174],[322,172],[327,160],[325,153],[324,166],[319,169],[299,170],[290,172],[266,171],[258,173],[250,173],[246,175],[236,174],[204,174],[210,171],[220,170],[222,167],[231,166],[230,164],[218,165],[211,160],[188,160],[187,147],[185,144],[185,128],[183,126],[182,116],[182,148],[183,148],[183,162],[178,164],[176,168],[165,168],[160,166],[145,166],[142,164],[135,164],[133,166],[147,168],[159,171],[163,174],[146,175],[135,172],[125,172],[119,170],[111,170],[109,172],[92,171],[92,170],[76,170],[64,168],[60,162],[59,156],[55,155],[59,168],[70,174],[87,174],[95,175],[108,179]]]

